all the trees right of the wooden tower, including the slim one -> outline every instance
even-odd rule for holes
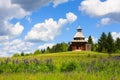
[[[103,32],[97,43],[94,43],[92,37],[89,36],[88,43],[91,44],[92,51],[120,53],[120,38],[114,40],[110,32],[107,35]]]

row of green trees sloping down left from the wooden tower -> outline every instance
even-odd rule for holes
[[[13,56],[28,56],[28,55],[37,55],[37,54],[45,54],[45,53],[57,53],[57,52],[66,52],[68,51],[68,43],[62,42],[57,43],[56,45],[52,46],[50,48],[49,46],[46,49],[37,49],[33,53],[24,53],[23,51],[21,53],[15,53]]]

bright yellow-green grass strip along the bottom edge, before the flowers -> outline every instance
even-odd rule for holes
[[[86,74],[78,72],[66,73],[13,73],[1,74],[0,80],[120,80],[119,76],[104,73]]]

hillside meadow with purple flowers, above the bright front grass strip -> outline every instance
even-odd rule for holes
[[[56,55],[56,56],[55,56]],[[59,56],[59,57],[58,57]],[[103,56],[102,58],[100,56]],[[38,73],[38,72],[71,72],[84,73],[113,72],[119,74],[120,57],[106,57],[105,54],[72,53],[43,54],[25,58],[6,58],[0,61],[0,73]]]

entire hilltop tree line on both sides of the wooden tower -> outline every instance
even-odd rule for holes
[[[104,32],[101,34],[100,38],[98,39],[97,43],[93,42],[92,36],[88,37],[88,44],[91,44],[91,51],[96,52],[103,52],[103,53],[120,53],[120,38],[116,40],[113,39],[111,33],[109,32],[106,35]],[[24,52],[16,53],[13,56],[28,56],[28,55],[37,55],[37,54],[44,54],[44,53],[57,53],[57,52],[66,52],[70,49],[70,43],[57,43],[52,48],[47,47],[47,49],[37,49],[34,53],[25,54]]]

